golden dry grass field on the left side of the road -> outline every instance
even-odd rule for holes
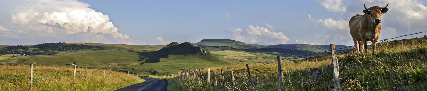
[[[58,66],[33,67],[33,88],[35,91],[111,91],[123,88],[143,80],[134,75],[121,75],[118,71],[77,68],[76,79],[73,79],[74,68]],[[0,91],[29,90],[28,65],[0,65]],[[87,78],[85,78],[87,76]]]

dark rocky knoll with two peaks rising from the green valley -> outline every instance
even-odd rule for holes
[[[167,46],[163,47],[162,49],[160,49],[158,52],[168,52],[168,51],[170,52],[170,51],[174,51],[174,50],[179,50],[179,51],[188,50],[188,51],[191,51],[194,54],[205,54],[205,53],[208,53],[208,51],[205,50],[204,48],[194,46],[190,42],[181,43],[181,44],[178,44],[176,42],[172,42],[169,45],[167,45]]]

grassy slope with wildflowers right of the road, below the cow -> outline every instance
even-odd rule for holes
[[[427,90],[427,39],[415,38],[395,40],[377,44],[376,54],[355,54],[352,51],[338,53],[341,90],[344,91],[423,91]],[[370,50],[369,50],[370,51]],[[400,62],[399,62],[400,61]],[[403,62],[402,62],[403,61]],[[295,62],[283,62],[284,91],[330,91],[333,89],[330,54],[310,57]],[[261,64],[249,64],[254,67]],[[230,65],[211,68],[211,73],[234,71],[235,89],[249,91],[246,65]],[[324,73],[322,81],[311,82],[311,69],[319,68]],[[237,71],[235,71],[237,70]],[[254,89],[278,91],[277,63],[250,69]],[[206,76],[206,69],[202,72]],[[272,73],[272,74],[270,74]],[[194,77],[174,77],[175,90],[227,91],[230,90],[230,74],[224,73],[225,89],[222,84],[200,82]],[[214,82],[211,74],[211,82]],[[222,81],[222,78],[218,78]]]

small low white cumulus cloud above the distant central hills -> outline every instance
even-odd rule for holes
[[[286,44],[289,38],[286,37],[282,32],[269,31],[264,27],[249,26],[248,28],[228,28],[233,34],[232,39],[243,41],[249,44]]]

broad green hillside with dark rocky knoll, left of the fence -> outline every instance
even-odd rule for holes
[[[105,50],[59,51],[58,54],[51,55],[12,57],[0,60],[0,64],[28,65],[37,63],[39,65],[70,66],[70,63],[74,62],[77,65],[88,65],[91,68],[106,68],[113,71],[135,70],[135,74],[169,75],[187,68],[206,68],[239,63],[237,60],[220,60],[209,51],[188,42],[181,44],[175,42],[169,46],[133,46],[100,43],[67,44],[101,46]],[[133,48],[135,50],[155,51],[130,51]]]

